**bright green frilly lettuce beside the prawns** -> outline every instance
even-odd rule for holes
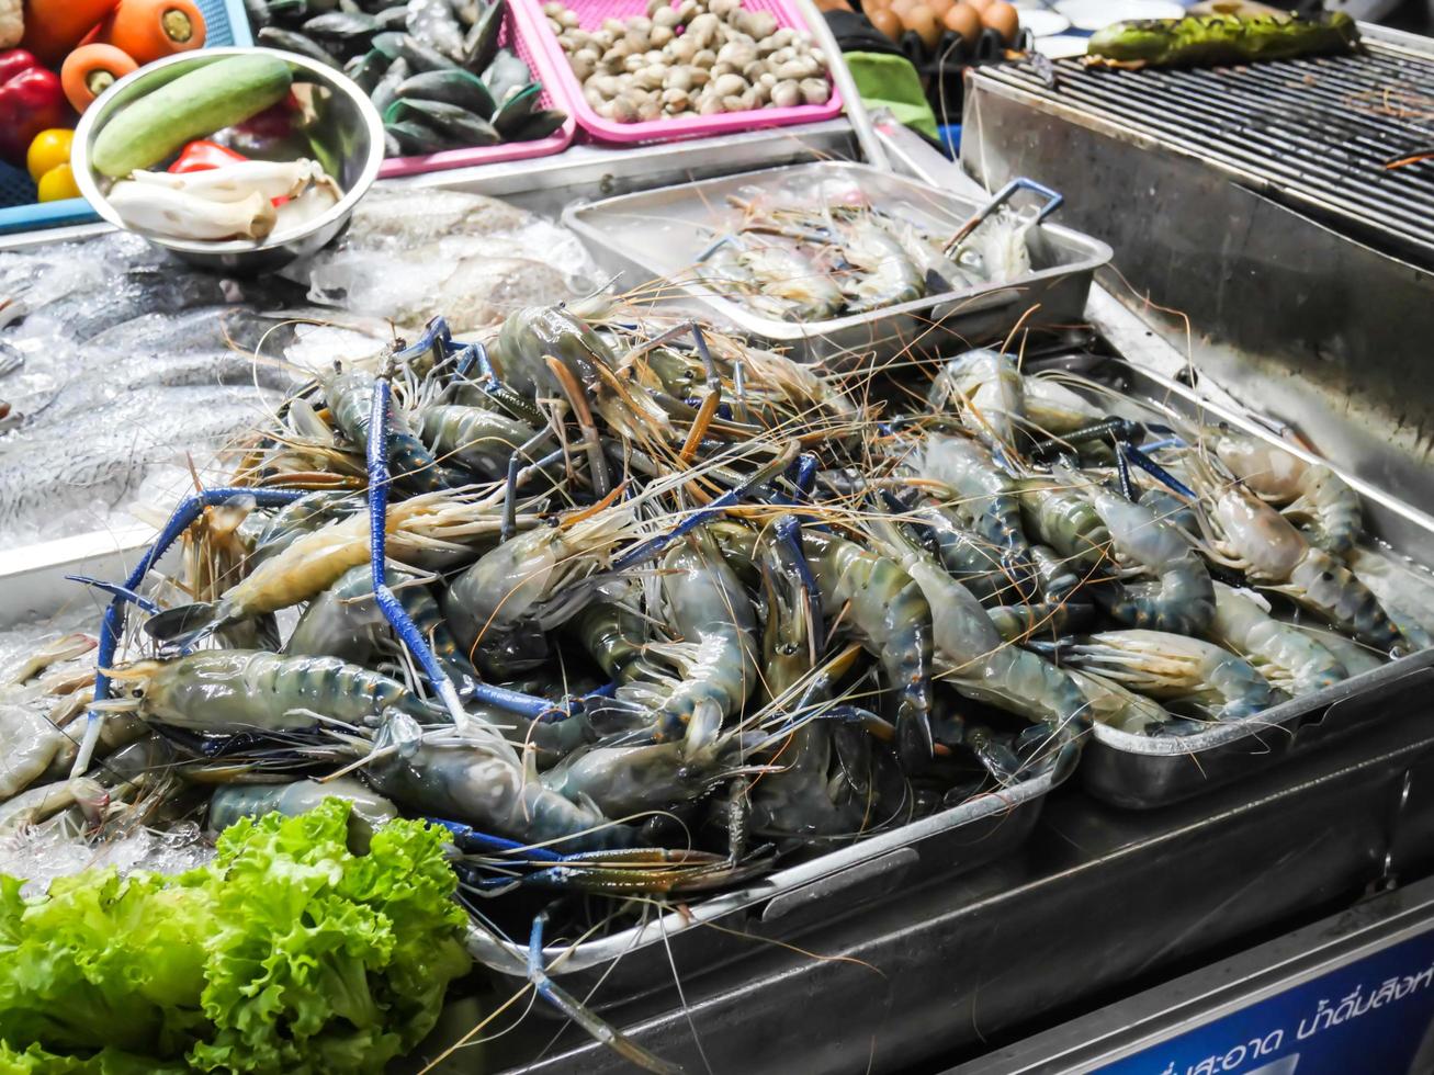
[[[92,870],[37,900],[0,877],[0,1075],[381,1072],[467,970],[465,914],[442,833],[393,821],[354,856],[347,818],[239,821],[179,877]]]

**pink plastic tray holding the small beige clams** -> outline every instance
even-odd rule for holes
[[[565,0],[578,16],[584,30],[602,24],[604,19],[627,19],[647,11],[645,0]],[[815,123],[832,119],[842,112],[842,99],[832,86],[832,99],[825,105],[799,105],[789,109],[753,109],[750,112],[724,112],[716,116],[684,116],[681,119],[648,119],[640,123],[617,123],[604,119],[582,96],[578,76],[572,73],[568,57],[558,43],[556,34],[548,26],[542,13],[542,0],[509,0],[523,36],[536,44],[548,67],[558,72],[554,86],[566,97],[564,105],[578,118],[578,125],[601,142],[675,142],[680,138],[710,138],[731,130],[753,130],[776,128],[789,123]],[[779,27],[806,30],[806,20],[789,0],[743,0],[750,11],[771,11]]]

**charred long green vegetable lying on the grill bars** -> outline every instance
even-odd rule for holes
[[[1319,19],[1213,14],[1116,23],[1090,39],[1093,67],[1205,67],[1354,52],[1359,29],[1344,11]]]

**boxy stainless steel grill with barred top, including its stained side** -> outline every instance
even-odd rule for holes
[[[1355,56],[981,69],[962,163],[1058,182],[1114,248],[1101,282],[1182,350],[1195,325],[1200,374],[1427,509],[1434,161],[1384,165],[1434,143],[1434,47],[1362,30]]]

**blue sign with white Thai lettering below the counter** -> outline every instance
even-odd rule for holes
[[[1103,1075],[1434,1075],[1434,929],[1100,1068]]]

